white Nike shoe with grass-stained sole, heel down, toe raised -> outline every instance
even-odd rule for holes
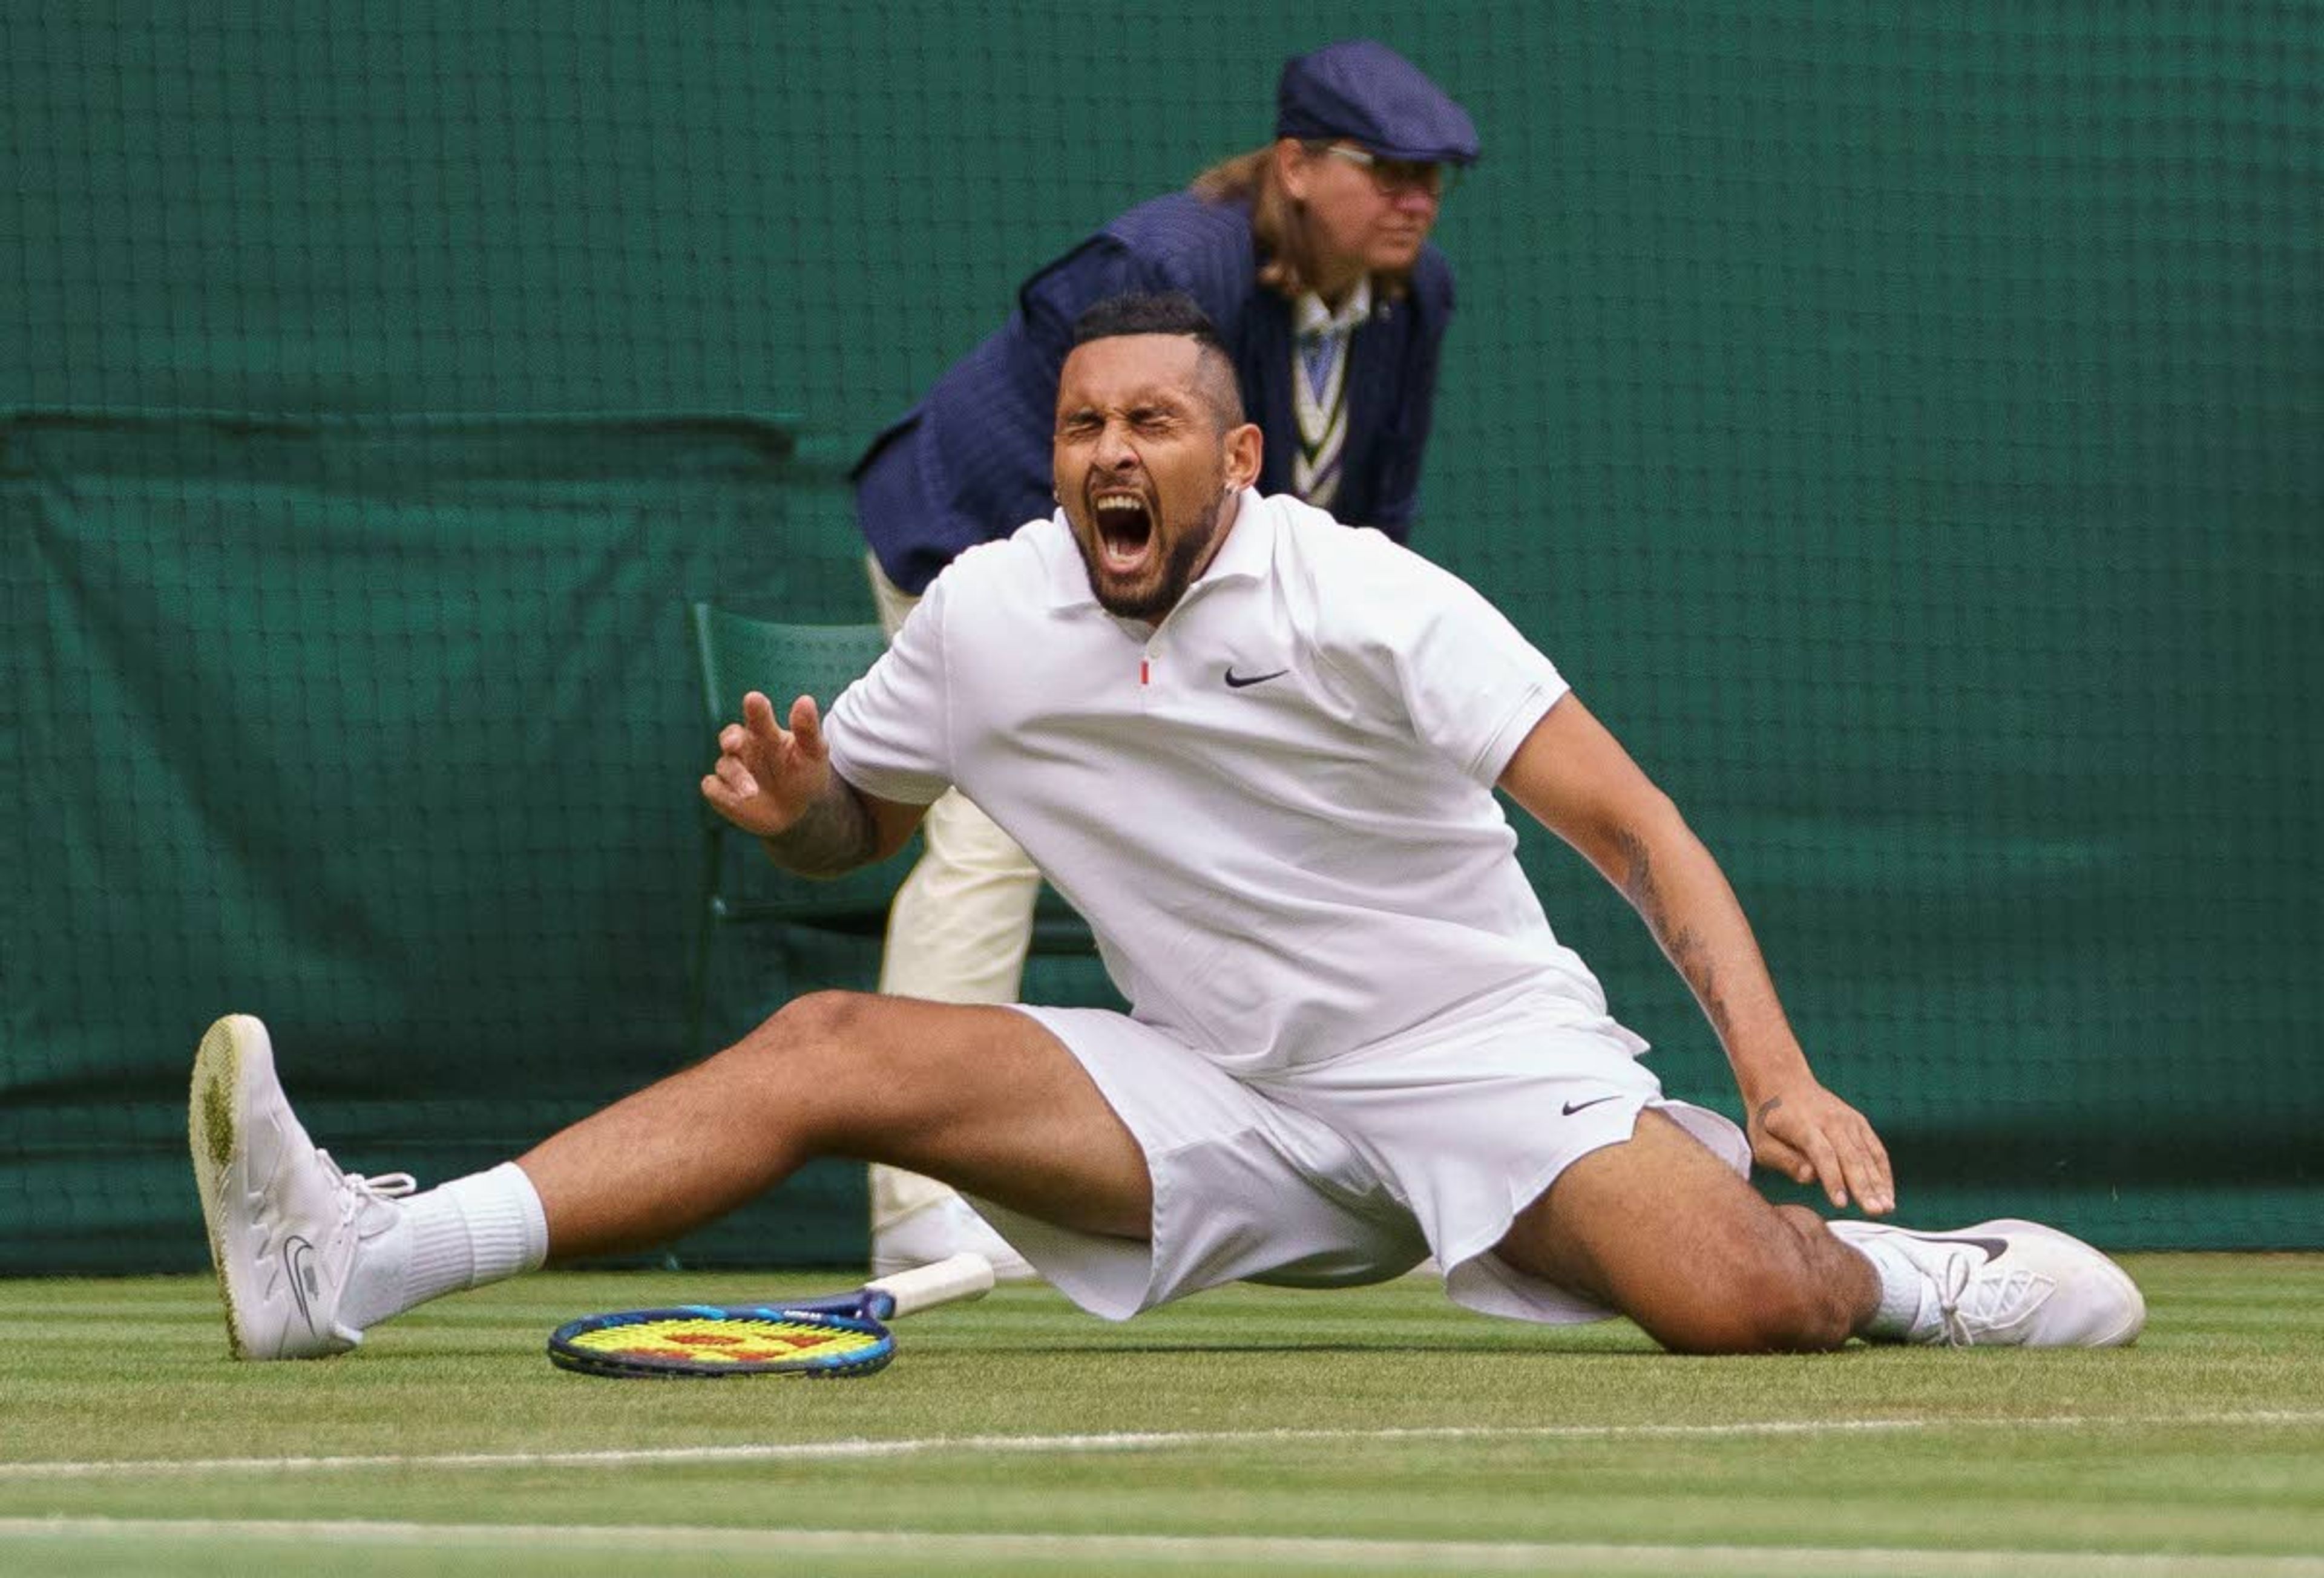
[[[395,1225],[409,1174],[360,1178],[316,1150],[274,1078],[267,1027],[232,1013],[193,1055],[188,1136],[209,1260],[237,1360],[318,1360],[363,1332],[339,1322],[365,1239]]]

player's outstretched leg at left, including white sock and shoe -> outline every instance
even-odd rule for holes
[[[662,1243],[816,1155],[892,1160],[1088,1232],[1143,1236],[1153,1211],[1129,1132],[1039,1023],[846,992],[425,1192],[342,1171],[284,1095],[267,1027],[228,1016],[195,1053],[188,1136],[242,1360],[344,1353],[551,1255]]]

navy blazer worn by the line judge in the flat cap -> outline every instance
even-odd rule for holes
[[[1122,291],[1185,291],[1234,353],[1267,435],[1262,493],[1292,486],[1290,302],[1257,284],[1250,211],[1171,193],[1141,202],[1018,291],[1009,323],[953,365],[855,462],[855,516],[881,569],[920,593],[962,548],[1050,514],[1057,370],[1074,318]],[[1348,444],[1332,514],[1404,541],[1436,407],[1452,267],[1422,249],[1406,297],[1373,307],[1348,346]]]

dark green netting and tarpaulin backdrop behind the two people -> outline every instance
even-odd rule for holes
[[[834,465],[1360,30],[1487,142],[1418,541],[1722,853],[1910,1215],[2324,1243],[2324,9],[1118,12],[0,16],[0,1269],[200,1264],[228,1009],[428,1178],[672,1067],[681,602],[869,618]],[[737,944],[730,1030],[871,974]],[[851,1260],[858,1171],[679,1253]]]

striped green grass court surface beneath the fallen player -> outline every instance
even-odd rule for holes
[[[2119,1353],[1004,1287],[825,1383],[590,1380],[541,1339],[830,1276],[535,1276],[325,1364],[228,1362],[207,1278],[0,1283],[0,1571],[2324,1573],[2324,1255],[2129,1264]]]

